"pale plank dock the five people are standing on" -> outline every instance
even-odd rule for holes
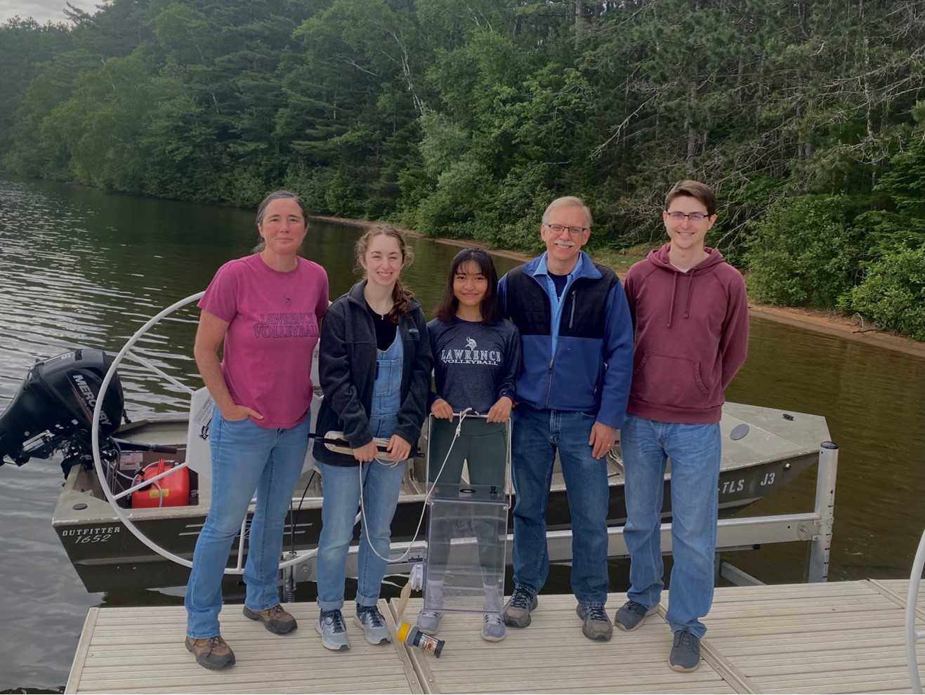
[[[182,607],[92,608],[66,692],[909,692],[903,609],[908,582],[861,580],[721,588],[705,622],[703,663],[667,664],[672,634],[659,614],[610,642],[586,640],[571,596],[540,596],[533,624],[506,640],[481,639],[481,616],[446,615],[439,659],[401,645],[366,644],[352,624],[350,652],[327,652],[314,604],[277,637],[227,606],[222,632],[237,654],[228,671],[196,665],[183,647]],[[623,604],[611,594],[608,612]],[[421,600],[408,604],[413,620]],[[391,606],[380,602],[394,628]],[[919,595],[925,622],[925,594]],[[919,644],[925,665],[925,643]]]

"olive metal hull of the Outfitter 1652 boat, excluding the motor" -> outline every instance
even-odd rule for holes
[[[736,427],[748,432],[731,439]],[[727,403],[721,422],[723,437],[720,472],[720,514],[729,516],[780,489],[816,462],[821,441],[828,439],[820,416],[789,413]],[[169,445],[178,449],[172,457],[182,460],[188,421],[185,418],[150,419],[133,422],[117,431],[120,438],[146,445]],[[740,429],[739,432],[742,430]],[[144,454],[145,464],[163,454]],[[623,465],[619,445],[607,461],[611,502],[608,524],[622,526],[626,518]],[[198,478],[193,474],[193,478]],[[671,465],[665,473],[665,506],[662,517],[671,518]],[[393,542],[411,541],[421,514],[426,492],[425,464],[415,458],[401,485],[399,507],[392,522]],[[127,510],[129,517],[155,543],[190,558],[196,537],[209,508],[210,491],[194,480],[190,506]],[[287,519],[285,549],[294,541],[296,549],[317,544],[321,530],[323,482],[314,469],[306,469],[293,490],[292,513]],[[568,500],[561,470],[556,468],[549,493],[549,530],[570,527]],[[125,591],[186,583],[189,570],[166,560],[142,544],[113,513],[93,469],[70,469],[58,497],[52,524],[61,544],[77,569],[87,591]],[[509,527],[512,528],[512,527]],[[246,528],[245,549],[246,553]],[[359,536],[357,536],[359,538]],[[232,548],[232,557],[238,547]],[[551,562],[567,562],[571,556],[550,556]],[[310,579],[310,572],[299,579]]]

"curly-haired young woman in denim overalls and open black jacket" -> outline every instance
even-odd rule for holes
[[[315,630],[334,651],[350,649],[340,609],[361,490],[354,624],[371,644],[390,640],[376,602],[405,460],[420,437],[430,387],[424,313],[399,280],[410,262],[404,239],[393,227],[374,226],[357,242],[356,257],[365,277],[331,304],[318,358],[325,397],[316,429],[343,432],[352,450],[348,456],[314,444],[324,489]],[[386,455],[377,453],[374,437],[388,439]]]

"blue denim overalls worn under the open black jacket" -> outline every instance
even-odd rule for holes
[[[403,362],[400,328],[395,331],[395,340],[388,350],[376,349],[376,382],[369,413],[369,429],[374,437],[388,439],[398,424]],[[363,505],[368,528],[360,531],[357,558],[356,603],[361,606],[376,605],[386,575],[388,563],[376,553],[388,557],[392,517],[405,469],[404,461],[393,464],[394,461],[384,459],[363,464]],[[361,473],[354,466],[320,465],[326,504],[322,507],[323,526],[318,542],[318,607],[329,611],[339,609],[344,603],[344,569],[360,504]],[[372,552],[370,541],[376,553]]]

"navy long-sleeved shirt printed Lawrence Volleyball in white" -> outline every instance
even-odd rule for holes
[[[514,399],[520,369],[520,334],[510,321],[481,323],[454,318],[427,323],[437,394],[459,412],[485,414],[501,396]]]

